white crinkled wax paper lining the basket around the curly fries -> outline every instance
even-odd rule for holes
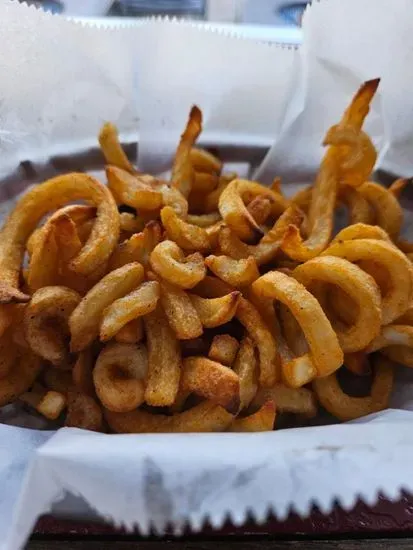
[[[314,2],[303,46],[289,49],[178,22],[96,29],[2,3],[0,177],[95,145],[108,119],[130,141],[139,132],[139,164],[161,170],[198,103],[203,143],[268,149],[261,165],[250,163],[260,177],[309,181],[323,133],[360,82],[377,76],[366,129],[381,147],[379,167],[410,176],[412,17],[408,0]],[[412,375],[397,372],[392,409],[347,425],[108,436],[0,424],[0,549],[21,547],[67,492],[142,533],[167,523],[177,533],[206,520],[219,527],[228,517],[239,525],[248,514],[264,521],[269,511],[305,515],[314,503],[328,512],[334,502],[374,504],[379,492],[398,498],[413,491]],[[27,420],[12,411],[0,422]]]

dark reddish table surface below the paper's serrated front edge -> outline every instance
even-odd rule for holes
[[[380,497],[374,508],[358,502],[351,511],[336,506],[329,515],[317,508],[309,518],[290,514],[286,521],[271,517],[264,525],[250,521],[243,527],[227,523],[202,534],[189,531],[182,538],[142,538],[103,524],[42,518],[28,544],[29,550],[405,550],[413,549],[413,496],[398,502]]]

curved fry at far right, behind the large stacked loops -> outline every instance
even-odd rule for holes
[[[392,239],[397,238],[403,223],[403,210],[394,194],[372,181],[365,181],[357,191],[372,206],[377,225]]]

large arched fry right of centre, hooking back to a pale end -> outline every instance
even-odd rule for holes
[[[267,273],[252,284],[258,295],[285,304],[298,321],[310,352],[283,365],[289,385],[304,385],[315,376],[327,376],[343,363],[343,352],[336,333],[318,301],[298,281],[276,271]]]

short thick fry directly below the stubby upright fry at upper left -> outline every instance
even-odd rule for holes
[[[133,208],[156,210],[163,203],[162,193],[156,188],[156,179],[146,174],[130,174],[116,166],[106,166],[108,187],[118,204]]]

